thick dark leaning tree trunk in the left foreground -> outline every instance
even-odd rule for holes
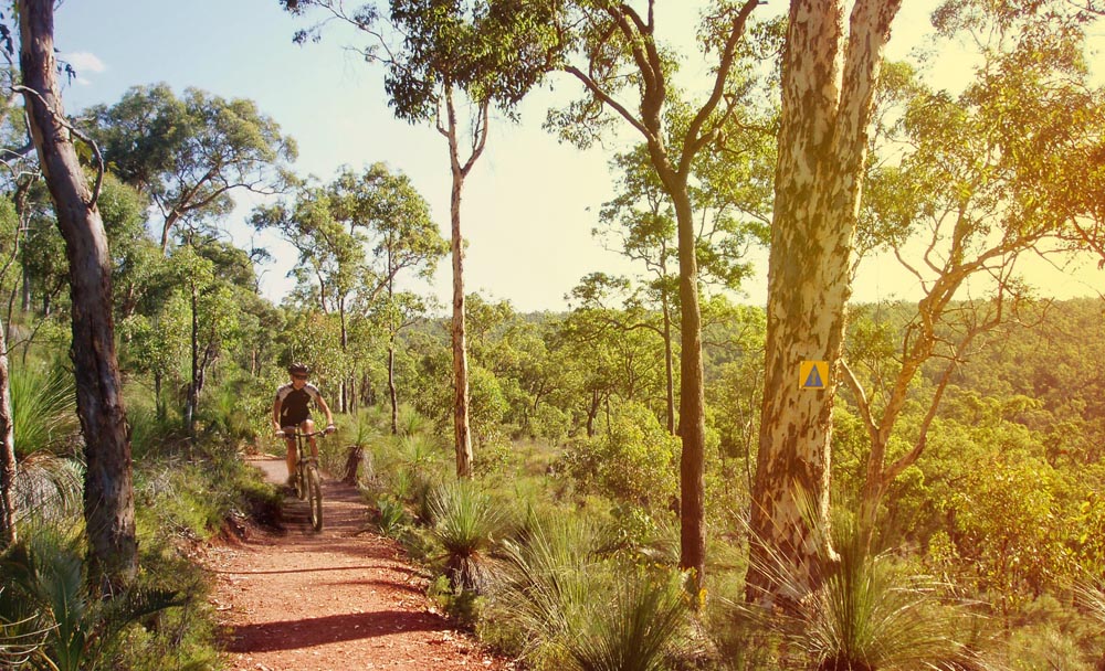
[[[84,514],[90,575],[107,595],[138,571],[130,436],[112,321],[112,264],[99,211],[64,120],[54,60],[53,0],[20,0],[20,66],[31,135],[57,227],[65,239],[73,301],[77,414],[85,441]]]

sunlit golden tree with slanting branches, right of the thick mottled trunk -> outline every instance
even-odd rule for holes
[[[991,38],[975,42],[985,56],[975,82],[958,96],[903,82],[908,93],[888,139],[909,150],[869,178],[871,235],[894,251],[923,294],[894,364],[859,375],[841,365],[871,443],[861,505],[869,539],[891,482],[924,452],[953,375],[987,331],[1025,321],[1020,308],[1031,287],[1018,262],[1076,237],[1099,210],[1102,182],[1071,179],[1095,170],[1105,128],[1105,89],[1088,81],[1077,13],[1051,13],[1041,26],[1033,17],[1002,20],[990,11],[946,8],[941,31]],[[962,21],[972,28],[953,28]],[[913,256],[911,247],[923,252]],[[912,383],[932,359],[943,370],[918,398]],[[909,402],[922,405],[924,418],[909,449],[893,454]]]

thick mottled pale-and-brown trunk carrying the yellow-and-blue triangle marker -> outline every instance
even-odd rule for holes
[[[821,579],[828,547],[829,455],[851,295],[872,96],[899,0],[859,0],[839,72],[840,0],[792,0],[768,270],[767,348],[751,507],[747,597],[800,598]],[[838,89],[838,79],[841,88]],[[823,390],[800,386],[802,361],[828,361]],[[770,576],[779,561],[792,585]]]

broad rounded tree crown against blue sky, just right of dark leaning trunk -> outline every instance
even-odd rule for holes
[[[157,206],[162,255],[180,223],[229,214],[232,192],[271,195],[290,185],[295,142],[252,100],[198,88],[178,98],[155,84],[84,114],[110,170]]]

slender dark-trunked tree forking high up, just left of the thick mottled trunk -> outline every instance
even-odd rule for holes
[[[680,298],[680,564],[695,571],[701,586],[706,566],[705,529],[705,396],[699,312],[699,263],[695,203],[690,191],[696,157],[724,143],[723,128],[748,121],[753,89],[743,44],[749,18],[759,0],[712,2],[704,13],[701,43],[711,55],[711,83],[705,98],[688,104],[685,126],[672,126],[665,109],[672,104],[674,55],[657,40],[655,0],[644,3],[579,0],[566,3],[558,19],[564,58],[558,67],[572,75],[585,96],[555,110],[550,126],[579,145],[591,143],[611,121],[621,119],[639,132],[653,170],[675,210]],[[643,4],[643,10],[638,9]],[[620,96],[629,92],[630,97]],[[635,111],[634,111],[635,110]],[[603,111],[610,113],[609,115]]]

